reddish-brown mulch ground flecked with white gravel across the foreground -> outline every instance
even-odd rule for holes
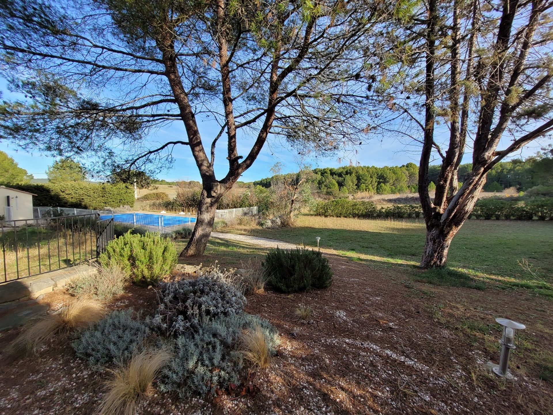
[[[551,302],[517,291],[424,286],[432,295],[413,295],[401,274],[376,271],[367,264],[328,256],[335,272],[330,289],[248,297],[247,312],[262,315],[280,331],[282,343],[272,367],[250,372],[243,385],[215,398],[180,400],[158,394],[140,405],[140,414],[456,414],[551,413],[553,385],[529,375],[524,350],[515,354],[515,380],[488,375],[484,364],[497,362],[482,339],[445,324],[429,308],[459,306],[459,318],[494,323],[495,317],[553,327]],[[417,283],[418,284],[418,283]],[[311,307],[299,320],[295,309]],[[152,312],[153,289],[129,287],[110,308]],[[514,307],[514,308],[513,308]],[[455,308],[455,307],[453,307]],[[507,313],[507,310],[510,310]],[[532,333],[551,349],[552,340]],[[18,331],[2,333],[4,350]],[[497,331],[497,338],[499,331]],[[38,357],[2,363],[0,414],[92,414],[102,397],[108,373],[93,371],[57,339]]]

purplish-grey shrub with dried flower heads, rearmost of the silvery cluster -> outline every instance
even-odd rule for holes
[[[220,316],[242,313],[246,305],[246,297],[217,273],[161,283],[158,299],[152,325],[168,336],[197,330]]]

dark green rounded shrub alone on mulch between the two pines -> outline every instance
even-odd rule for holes
[[[284,293],[327,288],[332,283],[332,269],[320,251],[276,248],[267,253],[263,268],[270,285]]]

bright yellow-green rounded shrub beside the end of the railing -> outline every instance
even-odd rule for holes
[[[169,238],[131,231],[109,242],[98,257],[103,267],[118,264],[137,284],[156,284],[176,264],[176,248]]]

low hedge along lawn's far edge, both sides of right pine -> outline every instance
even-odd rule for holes
[[[311,211],[317,216],[394,218],[421,217],[420,205],[392,205],[378,208],[371,201],[335,199],[320,201]],[[553,198],[528,200],[478,200],[471,217],[476,219],[553,220]]]

